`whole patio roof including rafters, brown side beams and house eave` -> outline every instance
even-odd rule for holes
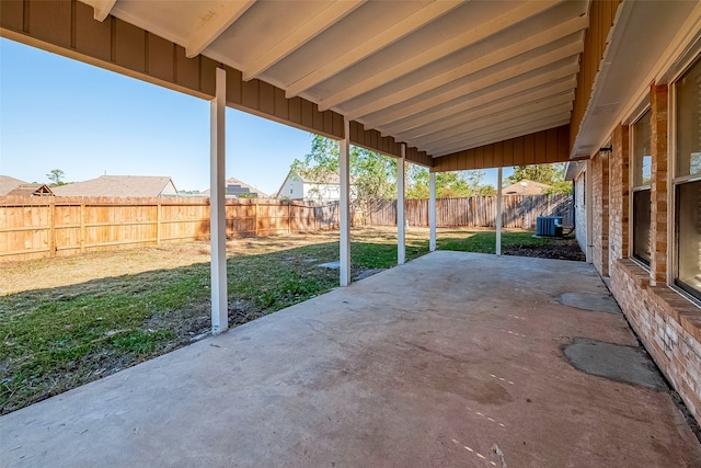
[[[345,119],[352,144],[436,171],[590,155],[699,21],[696,2],[619,0],[2,8],[5,37],[206,99],[223,67],[229,106],[337,139]]]

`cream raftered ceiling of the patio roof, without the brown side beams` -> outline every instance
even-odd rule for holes
[[[122,0],[110,13],[187,57],[202,53],[244,81],[443,156],[570,122],[587,10],[587,1]]]

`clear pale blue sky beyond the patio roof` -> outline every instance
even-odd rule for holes
[[[275,193],[311,135],[227,110],[227,178]],[[209,186],[209,103],[0,38],[0,174],[170,175]],[[510,172],[505,171],[506,174]],[[496,170],[486,183],[496,185]]]

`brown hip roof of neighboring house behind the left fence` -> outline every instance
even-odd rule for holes
[[[151,175],[101,175],[54,187],[54,194],[58,196],[154,197],[176,193],[171,178]]]

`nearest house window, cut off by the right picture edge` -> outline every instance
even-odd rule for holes
[[[701,299],[701,60],[675,83],[675,284]]]

